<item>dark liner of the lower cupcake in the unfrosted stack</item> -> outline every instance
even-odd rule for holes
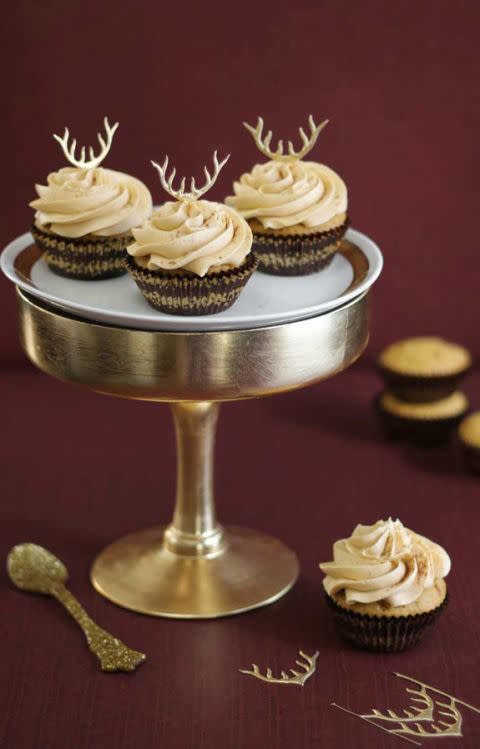
[[[381,405],[381,396],[382,393],[378,393],[373,403],[386,435],[420,445],[442,445],[448,442],[469,408],[467,406],[456,416],[442,419],[412,419],[386,411]]]

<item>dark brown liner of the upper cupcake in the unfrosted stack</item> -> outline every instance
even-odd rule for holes
[[[449,375],[406,375],[392,372],[378,364],[378,369],[387,387],[401,400],[409,403],[430,403],[451,395],[471,366]]]

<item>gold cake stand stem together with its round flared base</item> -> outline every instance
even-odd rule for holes
[[[260,531],[215,517],[213,471],[219,405],[171,404],[177,436],[172,522],[119,538],[95,559],[100,593],[144,614],[208,619],[265,606],[298,575],[295,554]]]

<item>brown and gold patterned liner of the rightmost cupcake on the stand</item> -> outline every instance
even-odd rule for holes
[[[277,276],[304,276],[326,268],[349,226],[315,234],[275,234],[253,232],[252,250],[260,263],[258,270]]]

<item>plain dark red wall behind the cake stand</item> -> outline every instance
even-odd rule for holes
[[[118,119],[108,165],[163,199],[150,159],[200,174],[232,157],[212,197],[257,159],[258,114],[293,137],[329,117],[314,151],[345,178],[353,225],[385,253],[371,355],[438,332],[478,350],[479,55],[476,2],[33,2],[3,18],[3,220],[24,232],[35,181],[63,164],[65,124],[94,142]],[[4,359],[22,356],[13,289],[0,279]]]

